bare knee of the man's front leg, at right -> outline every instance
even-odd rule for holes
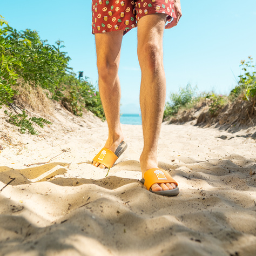
[[[163,68],[163,46],[156,42],[148,42],[138,47],[140,67],[153,73]]]

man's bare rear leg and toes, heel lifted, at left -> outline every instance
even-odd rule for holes
[[[104,147],[113,152],[124,139],[120,125],[121,89],[118,77],[122,39],[123,31],[96,33],[95,35],[99,93],[109,126],[109,137]],[[92,164],[105,168],[96,161]]]

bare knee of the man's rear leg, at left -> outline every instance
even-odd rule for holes
[[[116,77],[118,73],[118,64],[116,62],[111,62],[108,59],[97,59],[97,68],[99,73],[99,78],[106,80],[110,77]]]

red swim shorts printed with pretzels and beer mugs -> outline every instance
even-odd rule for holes
[[[126,33],[149,14],[176,18],[173,0],[92,0],[92,33],[116,30]]]

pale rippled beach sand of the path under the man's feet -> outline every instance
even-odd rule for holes
[[[163,124],[168,198],[138,181],[142,126],[123,125],[129,147],[105,177],[90,161],[106,124],[60,107],[51,120],[31,136],[1,118],[0,255],[255,255],[254,130]]]

